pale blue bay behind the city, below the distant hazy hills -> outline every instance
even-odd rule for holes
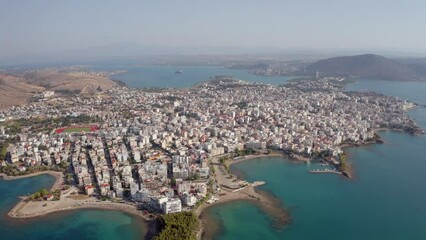
[[[291,77],[256,76],[246,70],[221,68],[217,66],[93,66],[94,70],[127,70],[126,73],[116,74],[112,79],[126,83],[129,87],[171,87],[185,88],[207,81],[210,77],[222,75],[236,79],[269,84],[284,84]],[[182,70],[181,74],[175,71]]]

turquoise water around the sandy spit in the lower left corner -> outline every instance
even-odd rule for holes
[[[7,212],[19,201],[19,195],[49,188],[54,180],[49,175],[13,181],[0,180],[0,239],[143,238],[146,232],[143,222],[117,211],[80,210],[27,220],[7,217]]]

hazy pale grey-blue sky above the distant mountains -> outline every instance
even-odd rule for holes
[[[109,44],[426,49],[425,0],[0,0],[0,56]]]

